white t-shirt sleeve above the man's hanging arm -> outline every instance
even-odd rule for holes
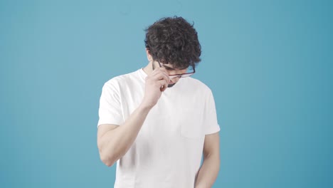
[[[213,93],[211,90],[208,92],[208,96],[206,98],[205,105],[205,135],[213,134],[215,132],[220,131],[220,126],[218,125],[217,115],[216,115],[216,107],[215,101],[213,98]]]

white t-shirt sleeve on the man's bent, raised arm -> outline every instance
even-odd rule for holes
[[[100,119],[98,120],[97,127],[102,124],[122,124],[123,117],[120,104],[120,91],[115,81],[109,80],[103,85],[98,115]]]

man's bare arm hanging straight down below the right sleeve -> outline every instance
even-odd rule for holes
[[[203,164],[196,177],[196,188],[212,187],[220,169],[220,137],[218,132],[206,135],[203,144]]]

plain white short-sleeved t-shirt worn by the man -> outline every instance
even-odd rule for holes
[[[98,125],[122,125],[144,96],[142,69],[108,80]],[[205,135],[218,132],[211,90],[194,78],[167,88],[150,110],[137,139],[117,161],[116,188],[194,187]]]

